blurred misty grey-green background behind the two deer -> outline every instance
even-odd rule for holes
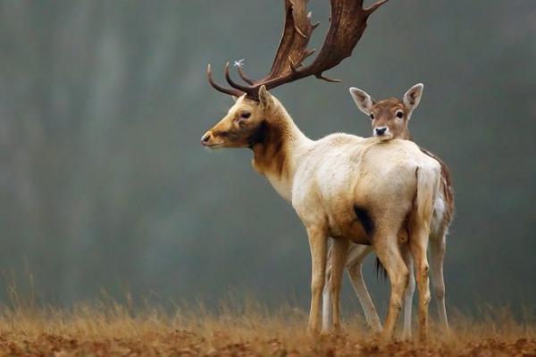
[[[267,73],[282,3],[0,1],[0,303],[16,283],[59,306],[103,290],[307,306],[309,247],[289,203],[248,150],[199,145],[232,103],[207,84],[207,63],[220,82],[241,58],[251,77]],[[319,48],[329,2],[309,7]],[[456,189],[448,309],[536,308],[536,2],[392,0],[368,24],[326,73],[342,84],[272,94],[309,137],[369,136],[348,87],[381,99],[423,82],[411,132]],[[372,256],[365,278],[384,308]],[[344,296],[356,310],[348,281]]]

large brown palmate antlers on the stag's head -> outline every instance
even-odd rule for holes
[[[320,53],[311,64],[306,66],[303,62],[314,54],[314,50],[307,50],[307,45],[318,23],[311,23],[311,12],[306,12],[307,0],[284,1],[285,27],[270,73],[264,79],[254,81],[247,78],[239,67],[239,76],[247,83],[247,85],[240,85],[230,79],[229,63],[227,63],[225,78],[231,88],[225,88],[214,82],[209,65],[208,79],[214,88],[231,95],[246,93],[247,97],[257,99],[258,90],[263,85],[267,89],[272,89],[309,76],[330,82],[339,82],[338,79],[325,77],[323,72],[337,66],[352,54],[354,47],[363,35],[368,17],[389,0],[380,0],[366,9],[363,8],[363,0],[331,0],[330,29]]]

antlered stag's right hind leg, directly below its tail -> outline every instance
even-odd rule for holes
[[[428,304],[430,303],[430,283],[428,280],[428,229],[417,227],[409,238],[409,247],[415,263],[415,276],[419,290],[419,338],[423,341],[428,336]]]

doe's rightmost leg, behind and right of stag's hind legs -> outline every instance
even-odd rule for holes
[[[438,315],[442,328],[448,329],[447,309],[445,308],[445,280],[443,278],[443,262],[447,247],[446,234],[430,240],[431,283],[435,290]]]

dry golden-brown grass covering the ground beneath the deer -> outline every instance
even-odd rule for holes
[[[110,302],[56,310],[15,298],[0,311],[0,355],[536,356],[536,326],[515,321],[507,310],[478,322],[452,316],[452,332],[432,327],[427,345],[381,345],[357,318],[347,320],[339,336],[314,338],[306,333],[306,313],[290,307],[269,311],[245,303],[195,311],[171,315]]]

